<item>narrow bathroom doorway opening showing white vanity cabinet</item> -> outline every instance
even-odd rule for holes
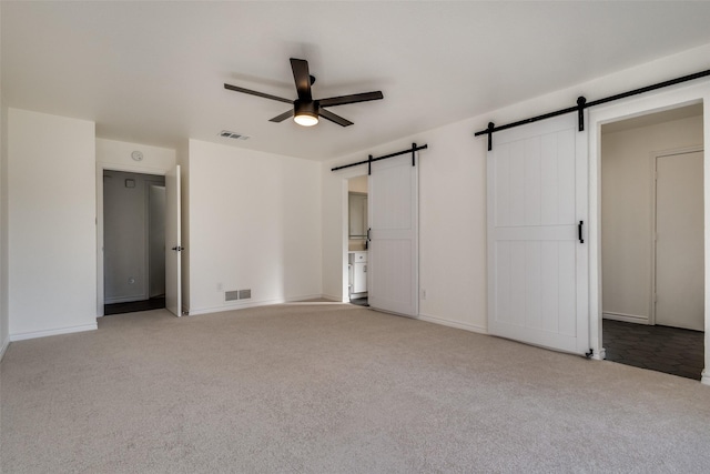
[[[347,295],[361,306],[367,303],[367,175],[347,180]]]

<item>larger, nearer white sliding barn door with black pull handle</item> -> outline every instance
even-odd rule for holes
[[[488,331],[584,354],[590,347],[588,152],[587,133],[577,128],[569,113],[494,135]]]

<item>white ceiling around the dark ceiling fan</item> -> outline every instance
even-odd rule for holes
[[[314,160],[710,43],[703,1],[4,0],[0,9],[3,105],[92,120],[106,139],[178,148],[193,138]],[[223,88],[295,99],[291,57],[310,62],[315,98],[382,90],[385,99],[331,109],[352,127],[306,129],[268,122],[287,104]],[[219,138],[225,129],[251,138]]]

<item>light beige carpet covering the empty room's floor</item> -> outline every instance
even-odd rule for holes
[[[12,343],[3,473],[710,471],[710,387],[346,304]]]

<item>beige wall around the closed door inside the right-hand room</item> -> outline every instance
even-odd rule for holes
[[[702,145],[702,115],[601,137],[602,311],[649,323],[653,152]]]

